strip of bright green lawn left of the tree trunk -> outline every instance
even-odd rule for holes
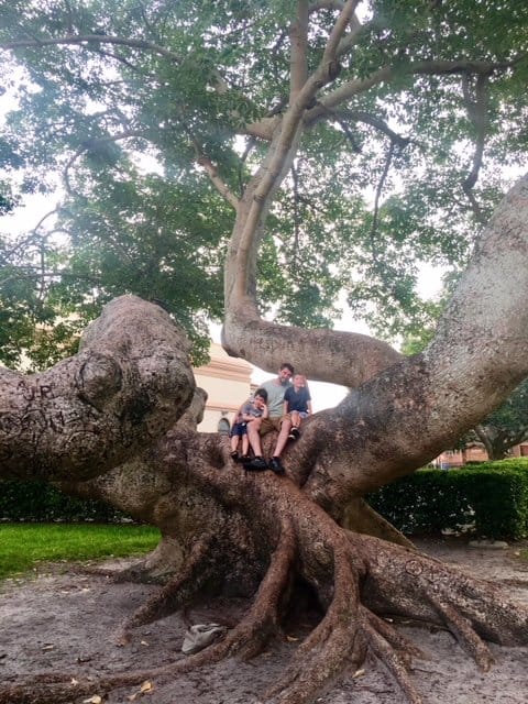
[[[105,560],[153,550],[152,526],[100,524],[0,524],[0,580],[32,572],[43,562]]]

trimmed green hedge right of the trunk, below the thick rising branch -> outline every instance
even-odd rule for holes
[[[418,470],[365,497],[402,532],[528,537],[528,459]]]

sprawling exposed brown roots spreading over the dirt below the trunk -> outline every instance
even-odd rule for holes
[[[422,653],[383,615],[447,627],[483,670],[493,662],[483,638],[508,644],[528,641],[526,610],[494,585],[415,551],[350,534],[314,504],[305,505],[299,514],[293,514],[292,506],[289,512],[284,510],[286,495],[292,502],[292,492],[284,492],[284,480],[275,483],[279,519],[275,550],[251,607],[223,640],[160,668],[97,680],[85,678],[75,684],[72,675],[33,675],[25,682],[6,685],[0,691],[0,704],[72,703],[96,689],[103,694],[138,686],[145,680],[162,684],[227,657],[252,658],[280,632],[295,574],[311,585],[324,606],[324,615],[297,648],[280,680],[266,693],[265,700],[276,704],[311,700],[342,672],[360,667],[369,651],[385,664],[408,702],[420,704],[410,668],[413,658]],[[302,518],[296,519],[297,515]],[[130,637],[132,627],[189,603],[207,579],[199,576],[207,554],[206,544],[197,546],[186,571],[128,619],[122,635]]]

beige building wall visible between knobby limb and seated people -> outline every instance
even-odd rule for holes
[[[252,365],[229,356],[216,342],[209,350],[211,361],[194,370],[196,385],[208,394],[200,432],[229,431],[233,416],[252,392]],[[229,424],[229,426],[228,426]]]

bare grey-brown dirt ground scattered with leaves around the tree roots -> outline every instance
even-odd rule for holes
[[[528,565],[518,558],[519,549],[528,543],[484,549],[448,538],[416,542],[428,554],[480,578],[504,583],[528,606]],[[73,676],[109,674],[136,667],[156,667],[185,657],[180,652],[185,625],[177,615],[138,629],[133,642],[125,648],[117,647],[109,638],[131,609],[156,588],[114,583],[80,571],[64,574],[57,570],[43,571],[35,580],[8,581],[0,591],[0,681],[6,683],[18,675],[52,671]],[[229,623],[244,606],[242,601],[216,603],[207,609],[191,612],[191,619],[193,623]],[[488,673],[482,673],[449,632],[410,624],[402,625],[400,629],[429,656],[416,660],[414,669],[414,681],[425,704],[526,704],[528,701],[528,644],[522,648],[492,645],[496,664]],[[288,636],[249,663],[226,661],[186,674],[170,684],[160,685],[153,681],[151,692],[143,694],[138,688],[117,691],[106,701],[111,704],[130,701],[256,704],[298,646],[300,632]],[[354,678],[352,674],[336,682],[316,701],[320,704],[405,702],[380,663],[367,660],[364,673]],[[97,694],[95,686],[94,695]],[[82,696],[78,701],[86,700]]]

